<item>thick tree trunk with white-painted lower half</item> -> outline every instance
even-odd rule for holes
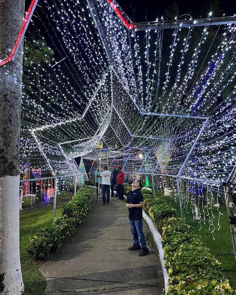
[[[24,0],[0,0],[0,59],[9,54],[24,17]],[[24,286],[19,257],[19,145],[22,45],[14,62],[0,67],[0,272],[2,294]]]

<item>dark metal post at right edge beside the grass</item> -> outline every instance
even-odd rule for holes
[[[233,242],[233,248],[234,248],[234,255],[236,260],[236,216],[234,214],[234,202],[232,198],[232,192],[231,192],[231,185],[236,177],[236,165],[231,171],[230,176],[227,179],[227,182],[225,184],[225,200],[226,200],[226,208],[227,213],[229,216],[230,221],[230,229],[231,229],[231,236],[232,236],[232,242]]]

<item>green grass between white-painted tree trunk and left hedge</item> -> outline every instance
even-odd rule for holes
[[[57,204],[57,217],[61,215],[63,203]],[[40,227],[51,227],[53,206],[35,207],[20,214],[20,261],[26,295],[42,295],[46,280],[39,271],[40,264],[30,259],[27,253],[29,238]]]

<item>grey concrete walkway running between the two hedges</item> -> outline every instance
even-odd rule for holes
[[[132,246],[125,201],[97,203],[75,234],[41,267],[46,294],[163,294],[158,254],[139,257]],[[149,227],[143,221],[144,233]]]

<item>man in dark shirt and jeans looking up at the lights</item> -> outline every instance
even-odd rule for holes
[[[126,208],[128,208],[128,218],[130,231],[133,236],[133,246],[128,250],[141,250],[139,256],[145,256],[149,253],[146,239],[142,231],[142,207],[144,206],[143,196],[140,192],[142,184],[139,180],[134,180],[132,190],[127,194]]]

